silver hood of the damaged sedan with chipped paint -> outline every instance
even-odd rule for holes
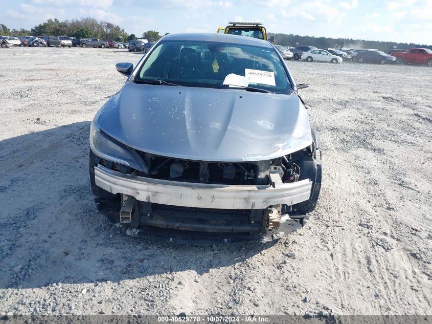
[[[294,94],[127,82],[94,122],[125,145],[179,159],[260,161],[312,143],[305,107]]]

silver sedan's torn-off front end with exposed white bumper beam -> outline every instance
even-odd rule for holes
[[[312,137],[312,144],[298,152],[247,162],[133,150],[138,162],[128,164],[107,160],[92,145],[90,181],[100,212],[130,226],[135,235],[195,244],[268,242],[301,228],[315,207],[321,152],[313,131]]]

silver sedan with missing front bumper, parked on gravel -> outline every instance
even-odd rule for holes
[[[321,189],[318,134],[278,50],[224,34],[158,40],[90,127],[96,205],[132,235],[271,241]]]

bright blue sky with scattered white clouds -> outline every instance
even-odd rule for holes
[[[216,32],[234,20],[274,33],[432,45],[432,0],[2,0],[1,8],[9,29],[90,16],[141,36]]]

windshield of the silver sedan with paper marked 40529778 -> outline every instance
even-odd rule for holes
[[[225,42],[162,41],[146,58],[135,81],[156,79],[185,87],[219,88],[229,74],[248,78],[248,87],[279,94],[292,91],[273,48]]]

